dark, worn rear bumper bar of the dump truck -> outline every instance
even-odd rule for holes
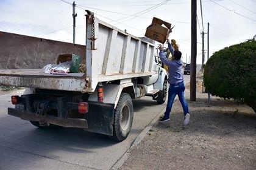
[[[55,124],[63,127],[82,127],[88,128],[87,120],[83,118],[57,118],[54,116],[43,116],[37,114],[30,114],[26,110],[8,108],[8,114],[15,117],[20,117],[23,120],[29,121],[45,121],[50,124]]]

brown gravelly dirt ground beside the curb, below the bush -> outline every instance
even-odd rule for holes
[[[156,123],[119,169],[256,169],[256,114],[251,107],[197,92],[183,126],[179,101],[168,123]],[[185,92],[189,98],[189,90]]]

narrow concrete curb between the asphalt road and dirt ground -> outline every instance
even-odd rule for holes
[[[141,141],[143,140],[143,138],[145,137],[145,135],[148,133],[148,131],[155,125],[155,123],[157,123],[159,117],[161,115],[163,115],[163,113],[165,112],[165,108],[163,110],[161,110],[161,112],[159,112],[159,114],[157,114],[154,118],[154,120],[151,121],[151,123],[148,124],[148,126],[145,127],[145,129],[140,132],[140,134],[135,138],[135,140],[133,141],[133,143],[131,144],[130,148],[127,149],[127,151],[124,153],[124,155],[119,158],[118,161],[116,161],[116,163],[112,166],[112,170],[116,170],[118,168],[120,168],[124,162],[127,160],[127,158],[129,158],[130,156],[130,150],[132,148],[134,148],[135,146],[137,146],[139,143],[141,143]]]

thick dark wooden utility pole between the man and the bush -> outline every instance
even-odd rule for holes
[[[196,0],[191,0],[191,65],[190,65],[190,100],[196,101]]]

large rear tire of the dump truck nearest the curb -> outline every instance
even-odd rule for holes
[[[115,109],[112,140],[123,141],[132,128],[133,104],[129,94],[122,93]]]

